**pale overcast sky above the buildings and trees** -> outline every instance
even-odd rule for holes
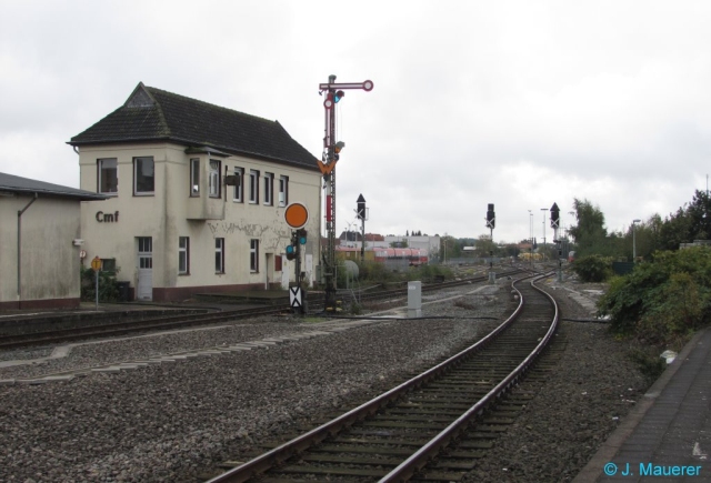
[[[79,187],[66,144],[136,85],[278,120],[314,157],[339,103],[338,232],[543,235],[553,202],[609,230],[711,172],[711,2],[0,0],[0,172]],[[293,200],[296,201],[296,200]],[[548,227],[548,221],[547,221]],[[550,240],[551,230],[547,228]]]

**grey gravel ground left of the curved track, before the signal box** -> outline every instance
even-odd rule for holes
[[[449,300],[423,308],[423,315],[453,319],[379,321],[268,350],[69,382],[0,385],[0,481],[192,482],[197,473],[237,451],[309,415],[374,395],[409,371],[477,340],[494,322],[475,318],[503,319],[511,310],[505,286],[484,290],[494,292],[465,295],[464,306]],[[46,365],[3,369],[0,379],[319,326],[261,320],[224,330],[87,344]]]

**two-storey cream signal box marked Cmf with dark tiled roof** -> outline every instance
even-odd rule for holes
[[[69,144],[79,153],[88,258],[141,300],[284,286],[286,207],[309,210],[302,271],[319,260],[321,172],[277,121],[142,83]]]

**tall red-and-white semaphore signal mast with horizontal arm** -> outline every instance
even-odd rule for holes
[[[326,232],[327,248],[321,254],[323,274],[326,276],[326,310],[336,309],[336,163],[346,145],[336,141],[336,104],[343,98],[344,90],[360,89],[371,91],[372,81],[337,83],[336,76],[329,76],[327,83],[319,84],[319,94],[326,92],[326,134],[323,137],[323,154],[319,169],[323,174],[326,188]]]

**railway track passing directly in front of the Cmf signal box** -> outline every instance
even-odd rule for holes
[[[499,275],[511,275],[519,273],[519,269],[501,272]],[[422,288],[423,292],[443,290],[458,285],[478,283],[487,280],[487,276],[474,276],[453,282],[434,283]],[[362,294],[361,301],[373,302],[377,300],[388,300],[407,295],[407,289],[387,290],[378,293]],[[319,310],[322,305],[311,301],[311,309]],[[69,341],[86,340],[91,338],[107,338],[141,333],[147,331],[173,330],[186,326],[198,326],[206,324],[222,323],[240,319],[248,319],[259,315],[276,315],[290,311],[288,305],[270,308],[236,309],[222,312],[203,314],[168,315],[151,319],[121,321],[116,323],[104,323],[90,326],[62,329],[56,331],[31,332],[23,334],[0,336],[0,350],[9,350],[24,346],[50,345]]]

